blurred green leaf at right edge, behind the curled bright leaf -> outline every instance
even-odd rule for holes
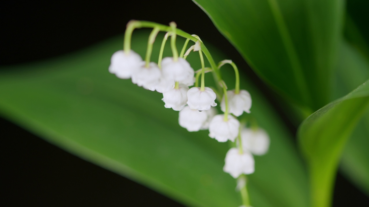
[[[369,79],[369,62],[354,46],[342,42],[334,98],[342,97]],[[341,169],[369,195],[369,112],[360,120],[342,152]]]

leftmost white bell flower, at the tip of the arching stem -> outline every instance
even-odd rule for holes
[[[118,78],[131,78],[132,73],[141,67],[142,58],[137,53],[130,50],[126,54],[124,50],[118,50],[111,56],[109,72],[115,74]]]

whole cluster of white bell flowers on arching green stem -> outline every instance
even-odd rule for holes
[[[145,60],[140,55],[130,49],[130,40],[132,31],[141,27],[154,28],[149,36],[148,49]],[[152,45],[159,31],[166,31],[167,34],[162,42],[161,52],[158,63],[150,62]],[[235,142],[237,147],[231,148],[225,156],[224,172],[230,173],[234,178],[242,174],[251,174],[255,171],[254,155],[262,155],[268,151],[269,137],[262,129],[247,129],[240,127],[238,117],[244,112],[250,113],[252,105],[251,96],[248,91],[239,89],[239,75],[237,66],[231,60],[223,60],[218,65],[214,63],[210,55],[205,52],[207,49],[196,35],[185,35],[187,38],[182,52],[178,55],[176,49],[176,25],[170,23],[170,27],[155,24],[152,22],[131,21],[127,25],[124,39],[124,50],[119,50],[111,57],[109,72],[115,74],[118,78],[129,79],[132,83],[142,86],[151,91],[157,91],[163,94],[162,101],[165,108],[172,108],[179,111],[179,125],[188,131],[209,130],[209,137],[219,142],[228,140]],[[173,57],[162,59],[162,51],[168,36],[171,36],[171,48]],[[189,40],[195,42],[186,53]],[[206,50],[203,50],[203,49]],[[199,52],[201,60],[201,70],[196,72],[187,62],[186,57],[193,51]],[[205,87],[204,76],[205,66],[203,53],[207,56],[211,64],[211,72],[218,83],[217,91]],[[212,64],[213,63],[213,64]],[[234,90],[227,90],[224,81],[221,80],[219,73],[224,64],[231,64],[236,74],[236,85]],[[201,75],[201,87],[198,85],[198,78]],[[216,90],[215,90],[216,91]],[[223,96],[221,93],[223,92]],[[220,101],[223,114],[217,114],[214,108],[217,106],[215,99]],[[242,130],[241,130],[242,129]],[[237,140],[237,141],[236,141]]]

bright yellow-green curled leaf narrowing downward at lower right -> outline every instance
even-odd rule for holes
[[[299,145],[308,163],[314,207],[328,207],[341,152],[369,106],[369,80],[329,103],[300,125]]]

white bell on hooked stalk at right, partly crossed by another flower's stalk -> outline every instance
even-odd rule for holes
[[[248,91],[240,90],[239,94],[235,94],[234,90],[227,91],[228,96],[228,112],[233,113],[235,116],[241,116],[242,113],[250,113],[251,108],[251,96]],[[223,96],[220,103],[220,109],[225,112],[225,98]]]

